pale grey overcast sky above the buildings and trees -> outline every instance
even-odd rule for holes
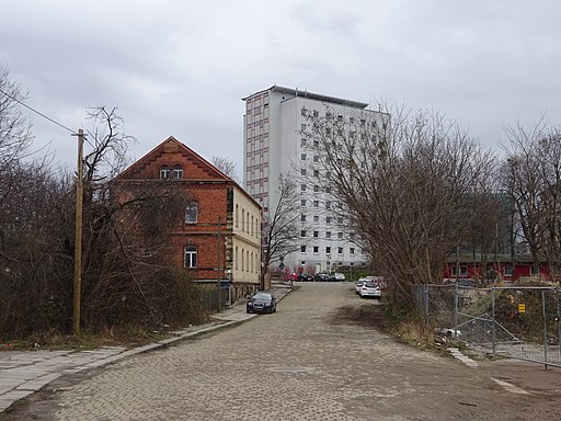
[[[561,123],[556,0],[0,0],[0,62],[27,103],[88,128],[118,107],[138,159],[172,135],[242,172],[242,98],[279,84],[445,113],[499,150],[503,128]],[[31,115],[36,146],[76,138]]]

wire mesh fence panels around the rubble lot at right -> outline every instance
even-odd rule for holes
[[[481,351],[561,366],[561,289],[415,285],[426,322]]]

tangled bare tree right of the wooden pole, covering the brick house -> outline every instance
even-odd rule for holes
[[[173,183],[115,178],[134,138],[115,109],[99,106],[89,115],[83,321],[95,329],[114,320],[144,327],[192,322],[198,317],[196,286],[174,269],[167,237],[184,220],[190,197]]]

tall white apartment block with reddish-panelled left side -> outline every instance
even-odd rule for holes
[[[382,118],[367,110],[368,104],[297,89],[273,86],[244,99],[243,180],[248,193],[267,214],[278,203],[279,175],[293,177],[300,194],[302,229],[295,232],[299,250],[286,255],[289,271],[327,272],[341,265],[358,265],[366,255],[354,242],[344,218],[310,197],[317,186],[305,174],[319,159],[302,134],[311,128],[309,116],[333,113],[337,118],[365,122]],[[386,115],[386,114],[385,114]],[[313,182],[311,182],[313,183]],[[278,264],[278,263],[277,263]]]

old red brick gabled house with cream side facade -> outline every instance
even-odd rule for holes
[[[174,183],[188,197],[184,220],[169,234],[171,259],[199,283],[229,285],[232,299],[259,286],[261,206],[231,178],[173,137],[117,177],[134,184]],[[158,186],[158,184],[156,184]],[[125,200],[121,193],[121,200]]]

